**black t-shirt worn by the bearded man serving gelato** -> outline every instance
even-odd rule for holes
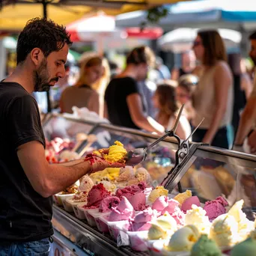
[[[29,242],[53,234],[52,197],[31,186],[17,148],[45,138],[37,102],[21,85],[0,82],[0,241]],[[37,171],[37,170],[34,170]]]

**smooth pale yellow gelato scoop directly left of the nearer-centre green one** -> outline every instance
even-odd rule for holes
[[[167,249],[171,252],[189,252],[199,237],[200,233],[195,225],[186,225],[171,236]]]

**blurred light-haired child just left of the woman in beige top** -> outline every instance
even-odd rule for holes
[[[198,84],[198,77],[192,74],[180,76],[177,81],[176,99],[180,104],[184,104],[184,115],[189,122],[195,116],[195,109],[192,106],[192,93]]]

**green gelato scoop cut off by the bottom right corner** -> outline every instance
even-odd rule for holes
[[[231,251],[231,256],[255,256],[256,255],[256,240],[252,237],[239,243]]]

